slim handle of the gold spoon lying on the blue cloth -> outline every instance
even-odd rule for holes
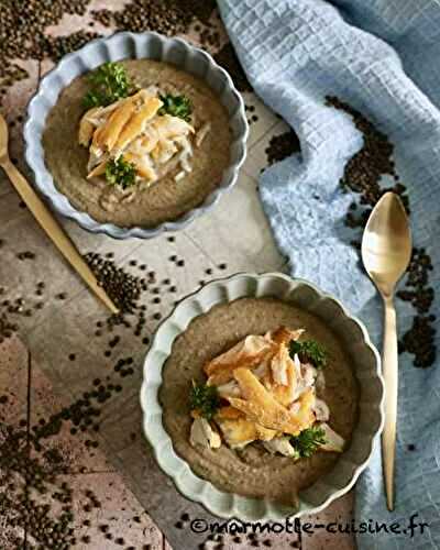
[[[382,460],[384,468],[386,504],[388,510],[394,509],[394,463],[396,454],[397,425],[397,327],[396,310],[393,297],[384,297],[385,322],[382,372],[385,381],[385,427],[382,433]]]

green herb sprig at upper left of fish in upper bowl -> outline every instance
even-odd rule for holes
[[[90,74],[88,80],[91,90],[82,100],[87,109],[107,107],[118,99],[127,98],[133,91],[125,68],[120,63],[105,63]]]

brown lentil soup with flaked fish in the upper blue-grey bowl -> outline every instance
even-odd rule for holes
[[[228,114],[206,84],[172,65],[150,59],[124,61],[119,65],[138,91],[128,100],[86,111],[88,76],[74,79],[48,116],[43,135],[45,162],[56,187],[77,209],[99,222],[155,227],[197,207],[220,184],[229,163]],[[169,97],[185,97],[190,102],[191,113],[186,121],[164,112]],[[130,101],[132,112],[127,109]],[[118,125],[121,120],[129,120],[130,124],[118,127],[118,138],[114,123]],[[112,134],[107,131],[106,141],[102,135],[111,125],[109,121],[113,123]],[[140,132],[130,133],[136,121]],[[87,135],[90,127],[95,133]],[[140,147],[134,148],[134,141],[139,144],[142,140]],[[109,150],[110,142],[119,143],[117,155]],[[111,177],[116,173],[108,169],[109,163],[118,163],[124,155],[136,168],[135,184],[130,180],[133,185],[124,188],[114,185],[113,178],[113,185],[109,185],[109,173]]]

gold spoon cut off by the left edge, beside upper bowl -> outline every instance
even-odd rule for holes
[[[16,193],[23,199],[28,208],[34,215],[34,218],[44,229],[47,235],[52,239],[55,246],[58,248],[59,252],[70,263],[70,265],[77,271],[77,273],[82,277],[85,283],[94,290],[94,293],[100,298],[103,304],[110,309],[112,314],[118,314],[119,310],[107,296],[102,287],[98,285],[92,271],[88,266],[87,262],[79,254],[75,244],[70,241],[67,234],[64,232],[62,227],[58,224],[56,219],[52,216],[47,207],[40,199],[30,184],[24,179],[22,174],[12,164],[9,152],[8,152],[8,125],[3,116],[0,113],[0,166],[7,173],[12,185],[15,187]]]

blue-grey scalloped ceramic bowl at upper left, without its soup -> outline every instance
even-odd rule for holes
[[[217,92],[221,103],[226,107],[232,132],[230,165],[223,172],[223,178],[216,190],[199,207],[189,210],[177,220],[161,223],[155,228],[122,228],[113,223],[99,223],[88,213],[77,210],[67,197],[58,191],[44,163],[42,134],[46,117],[63,88],[75,77],[102,63],[127,58],[148,58],[170,63],[201,78]],[[220,196],[237,182],[239,168],[246,154],[246,138],[248,122],[244,103],[228,73],[202,50],[190,46],[180,38],[166,38],[153,32],[117,33],[108,38],[91,41],[77,52],[63,57],[59,64],[42,79],[37,92],[29,103],[28,120],[24,125],[25,157],[34,172],[35,184],[40,191],[57,212],[77,221],[87,231],[107,233],[116,239],[130,237],[150,239],[164,231],[177,231],[211,209]]]

